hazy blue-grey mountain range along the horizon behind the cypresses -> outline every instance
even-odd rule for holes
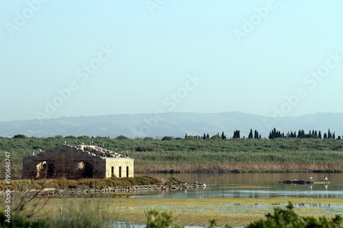
[[[226,134],[240,130],[241,137],[248,136],[250,129],[259,131],[262,138],[268,138],[275,127],[278,131],[296,131],[304,129],[335,132],[343,134],[343,113],[317,113],[305,116],[272,117],[246,114],[242,112],[224,113],[165,113],[165,114],[120,114],[107,116],[75,116],[47,119],[43,121],[6,121],[0,122],[0,136],[50,137],[50,136],[109,136],[123,135],[129,138],[174,136],[202,136],[203,134]]]

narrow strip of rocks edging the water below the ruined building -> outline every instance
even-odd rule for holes
[[[111,193],[111,192],[156,192],[156,191],[173,191],[173,190],[195,190],[199,188],[207,188],[205,183],[178,183],[172,185],[158,185],[158,186],[117,186],[106,188],[45,188],[43,190],[29,190],[29,195],[36,194],[39,197],[43,196],[58,196],[58,195],[80,195],[80,194],[95,194],[95,193]],[[14,196],[19,193],[12,191]],[[5,192],[1,192],[1,196]]]

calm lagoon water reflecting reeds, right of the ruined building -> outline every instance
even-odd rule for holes
[[[170,192],[139,192],[134,197],[156,198],[343,198],[343,173],[237,173],[237,174],[161,174],[153,177],[178,177],[181,181],[206,183],[209,188]],[[320,181],[328,178],[328,185],[299,185],[279,183],[284,180]]]

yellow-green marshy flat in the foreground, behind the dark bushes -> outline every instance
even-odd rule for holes
[[[171,211],[176,224],[202,226],[215,220],[218,226],[246,226],[263,219],[275,207],[285,207],[288,202],[296,204],[342,205],[343,199],[140,199],[122,194],[117,197],[102,198],[62,198],[49,199],[43,210],[34,218],[60,218],[60,212],[82,212],[88,208],[91,213],[103,216],[107,221],[130,221],[145,224],[146,210]],[[34,204],[34,202],[32,202]],[[327,214],[327,207],[296,207],[295,212],[300,216],[319,218]],[[333,218],[333,214],[327,218]]]

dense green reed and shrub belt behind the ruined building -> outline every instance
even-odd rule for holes
[[[273,132],[272,135],[279,135],[278,131]],[[342,172],[343,140],[307,137],[307,134],[302,137],[303,131],[299,133],[298,138],[228,139],[224,134],[212,137],[204,134],[204,138],[165,136],[161,140],[125,136],[28,138],[17,135],[0,138],[0,151],[11,153],[12,171],[20,171],[23,158],[33,153],[52,149],[64,142],[72,146],[93,142],[117,153],[128,153],[134,158],[135,172]],[[235,136],[238,137],[239,132],[235,131]],[[0,168],[4,168],[4,159],[5,156],[0,157]]]

